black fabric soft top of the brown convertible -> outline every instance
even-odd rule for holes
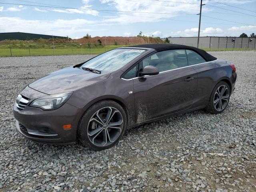
[[[198,49],[198,48],[186,46],[186,45],[179,45],[179,44],[144,44],[144,45],[134,45],[129,47],[151,48],[156,50],[157,52],[165,51],[165,50],[174,50],[174,49],[188,49],[200,54],[207,62],[214,61],[217,59],[216,57],[208,54],[202,49]]]

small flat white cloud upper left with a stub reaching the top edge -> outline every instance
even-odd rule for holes
[[[99,12],[96,10],[91,10],[90,9],[91,5],[88,4],[89,2],[90,0],[82,0],[82,3],[84,5],[78,9],[53,9],[52,11],[60,12],[60,13],[70,13],[70,14],[73,14],[73,13],[90,14],[93,16],[97,16]]]

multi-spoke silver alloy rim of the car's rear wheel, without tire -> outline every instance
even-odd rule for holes
[[[226,85],[221,85],[218,87],[214,94],[214,108],[217,111],[222,111],[226,108],[229,99],[229,90]]]

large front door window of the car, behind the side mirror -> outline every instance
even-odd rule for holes
[[[188,66],[185,50],[167,50],[152,54],[142,60],[142,66],[158,68],[159,72]]]

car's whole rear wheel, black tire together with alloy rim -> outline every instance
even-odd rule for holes
[[[223,93],[222,90],[224,90]],[[206,111],[212,114],[222,113],[228,106],[229,99],[230,87],[226,82],[221,81],[212,90]]]

